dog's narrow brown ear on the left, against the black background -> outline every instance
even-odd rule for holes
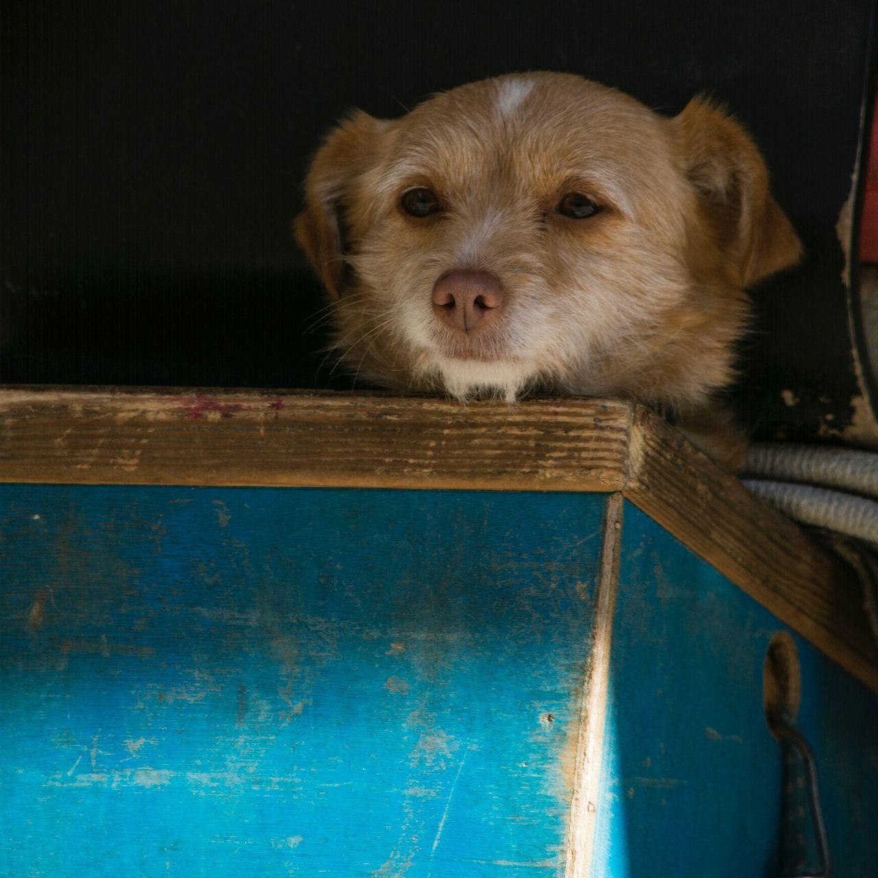
[[[305,209],[293,223],[299,246],[333,299],[345,284],[345,239],[350,184],[366,169],[388,123],[354,112],[334,128],[314,155],[305,181]]]

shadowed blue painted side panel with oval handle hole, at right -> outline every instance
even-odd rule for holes
[[[762,666],[782,628],[626,503],[595,876],[779,874],[781,757]],[[833,874],[878,874],[878,702],[795,641]]]

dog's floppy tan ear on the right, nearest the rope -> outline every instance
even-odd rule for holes
[[[766,163],[744,126],[703,97],[691,100],[671,125],[711,237],[738,267],[741,285],[795,265],[802,243],[771,196]]]

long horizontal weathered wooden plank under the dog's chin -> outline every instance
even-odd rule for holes
[[[0,391],[0,481],[613,491],[630,407],[345,393]]]

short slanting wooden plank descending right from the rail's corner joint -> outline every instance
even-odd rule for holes
[[[628,500],[878,690],[878,648],[846,565],[642,408],[629,461]]]

